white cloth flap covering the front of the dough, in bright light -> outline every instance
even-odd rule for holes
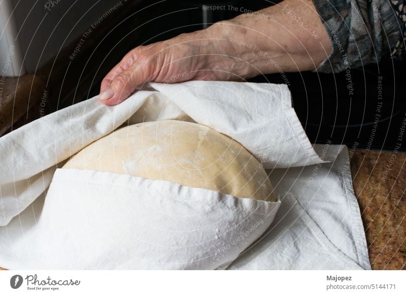
[[[12,245],[0,257],[11,269],[216,269],[269,227],[279,205],[170,181],[57,169],[38,214],[20,214],[22,224],[14,218],[8,241],[0,229],[1,244]]]

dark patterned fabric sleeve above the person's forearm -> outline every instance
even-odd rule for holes
[[[403,51],[404,0],[313,0],[333,47],[318,67],[339,72]]]

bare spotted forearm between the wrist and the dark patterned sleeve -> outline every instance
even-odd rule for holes
[[[234,59],[231,68],[243,78],[261,73],[315,69],[331,52],[329,36],[312,1],[285,0],[252,14],[218,22],[207,29],[220,35],[219,53]],[[213,58],[211,67],[224,66]],[[242,62],[238,62],[242,61]]]

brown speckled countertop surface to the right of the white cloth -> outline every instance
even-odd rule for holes
[[[357,150],[351,160],[369,261],[375,270],[406,269],[406,153]]]

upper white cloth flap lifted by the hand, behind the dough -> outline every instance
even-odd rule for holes
[[[286,85],[202,81],[150,85],[160,92],[139,91],[113,107],[94,97],[1,137],[0,225],[44,192],[57,163],[129,118],[131,123],[142,121],[139,114],[131,118],[140,108],[149,120],[187,114],[242,143],[265,168],[323,162],[297,119]]]

